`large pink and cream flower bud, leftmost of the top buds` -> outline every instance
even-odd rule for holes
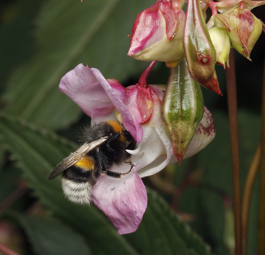
[[[173,62],[184,57],[182,47],[185,13],[176,12],[167,0],[159,0],[140,12],[132,27],[128,56],[145,61]]]

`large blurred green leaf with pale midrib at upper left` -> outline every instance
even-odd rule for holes
[[[132,24],[152,1],[47,1],[37,19],[36,54],[21,65],[4,94],[5,111],[59,129],[77,120],[80,108],[58,89],[79,63],[123,82],[147,63],[128,57]]]

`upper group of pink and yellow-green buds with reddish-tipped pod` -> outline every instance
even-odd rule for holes
[[[174,67],[186,58],[190,76],[206,88],[221,94],[214,65],[229,67],[232,47],[249,55],[265,25],[251,13],[264,0],[158,0],[139,13],[132,28],[128,55],[139,60],[165,61]],[[205,23],[206,9],[212,16]],[[182,43],[183,42],[183,43]]]

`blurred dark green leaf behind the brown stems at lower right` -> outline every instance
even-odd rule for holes
[[[216,136],[214,140],[193,159],[193,168],[202,173],[198,187],[187,187],[181,195],[179,210],[192,214],[191,223],[214,253],[229,255],[224,243],[225,206],[221,195],[233,198],[232,170],[229,139],[229,120],[225,112],[211,111],[214,117]],[[248,168],[260,139],[260,115],[239,109],[240,172],[242,190]],[[192,160],[192,158],[191,158]],[[182,168],[182,167],[181,167]],[[176,171],[183,171],[183,168]],[[258,180],[251,199],[248,254],[256,254]]]

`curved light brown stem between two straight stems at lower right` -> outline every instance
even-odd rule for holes
[[[248,239],[248,217],[249,208],[252,196],[252,190],[255,179],[257,177],[259,165],[261,159],[261,144],[258,145],[251,165],[248,170],[248,176],[246,178],[245,187],[243,191],[242,200],[242,243],[243,243],[243,255],[247,254],[247,239]]]

